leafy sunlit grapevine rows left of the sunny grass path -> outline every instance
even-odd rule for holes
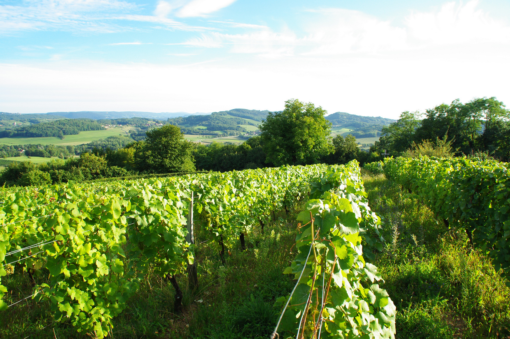
[[[298,254],[284,272],[298,281],[290,298],[277,300],[285,306],[275,334],[392,337],[395,307],[366,262],[382,248],[380,219],[368,207],[355,162],[7,189],[0,275],[27,272],[33,294],[13,300],[0,286],[0,307],[49,300],[57,320],[101,338],[150,271],[173,285],[178,313],[183,292],[176,276],[187,274],[189,288],[200,284],[200,246],[215,247],[224,264],[225,251],[244,249],[253,228],[263,231],[271,214],[274,220],[309,195],[298,215]],[[193,241],[197,221],[210,235],[202,244]]]

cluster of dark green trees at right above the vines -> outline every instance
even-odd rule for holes
[[[382,128],[382,136],[371,148],[402,155],[425,142],[448,144],[455,155],[485,153],[502,161],[510,159],[510,112],[495,97],[467,103],[453,100],[419,112],[402,112],[400,118]]]

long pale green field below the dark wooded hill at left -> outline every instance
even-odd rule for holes
[[[108,128],[103,131],[85,131],[80,132],[77,135],[65,136],[62,140],[57,137],[47,137],[47,138],[0,138],[0,144],[3,145],[27,145],[27,144],[42,144],[42,145],[81,145],[88,144],[91,141],[105,139],[111,136],[127,135],[127,132],[124,128],[129,131],[129,129],[133,129],[133,127],[127,126],[123,128],[115,127]]]

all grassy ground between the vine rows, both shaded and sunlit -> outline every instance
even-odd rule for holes
[[[510,338],[510,289],[480,251],[469,246],[461,229],[447,229],[413,196],[384,175],[363,173],[369,203],[384,218],[382,252],[374,264],[398,313],[401,339]],[[282,274],[293,259],[297,205],[277,212],[246,236],[246,250],[237,244],[222,264],[209,233],[197,222],[195,234],[199,286],[191,291],[185,275],[177,279],[184,292],[183,314],[173,314],[173,288],[149,273],[141,290],[114,320],[113,337],[127,338],[267,338],[278,309],[275,298],[288,295],[295,281]],[[205,243],[202,243],[205,242]],[[37,279],[42,282],[47,273]],[[2,278],[7,303],[30,295],[28,277],[19,267]],[[55,331],[55,332],[54,332]],[[0,317],[0,337],[88,338],[67,322],[58,323],[48,303],[28,300]],[[286,337],[281,333],[281,337]]]

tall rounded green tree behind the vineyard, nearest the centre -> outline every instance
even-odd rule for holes
[[[285,101],[283,112],[270,112],[260,126],[266,162],[275,166],[315,164],[333,152],[327,112],[312,102]]]

